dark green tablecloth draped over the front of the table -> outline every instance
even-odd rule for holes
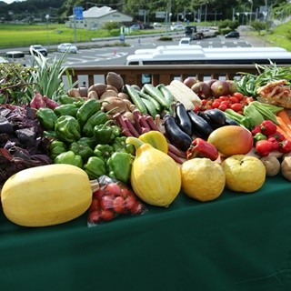
[[[26,228],[0,216],[1,290],[291,290],[291,183],[87,227]]]

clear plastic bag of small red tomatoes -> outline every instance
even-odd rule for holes
[[[147,209],[127,184],[108,176],[91,181],[92,203],[89,207],[87,225],[96,226],[120,215],[140,216]]]

